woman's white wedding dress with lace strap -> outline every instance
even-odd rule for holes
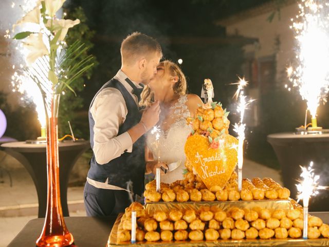
[[[186,169],[184,146],[192,130],[186,124],[186,118],[190,116],[186,102],[187,95],[181,95],[178,101],[170,108],[173,112],[170,117],[174,121],[168,130],[160,130],[158,132],[158,140],[156,140],[156,134],[149,132],[147,135],[147,146],[153,153],[155,161],[159,157],[159,161],[166,164],[180,162],[178,168],[161,175],[161,182],[163,183],[173,183],[184,179],[184,170]]]

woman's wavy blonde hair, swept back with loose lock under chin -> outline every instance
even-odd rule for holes
[[[178,77],[178,81],[173,86],[174,93],[177,95],[185,95],[187,90],[186,78],[178,65],[169,60],[162,61],[159,65],[165,67],[165,72],[169,71],[171,76]],[[140,95],[139,105],[140,107],[147,107],[153,101],[154,93],[149,85],[145,85]]]

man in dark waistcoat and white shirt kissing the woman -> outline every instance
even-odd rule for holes
[[[142,84],[157,73],[159,43],[134,32],[121,44],[121,69],[96,93],[89,108],[93,157],[84,188],[87,216],[117,215],[144,187],[144,138],[159,120],[159,103],[141,114]]]

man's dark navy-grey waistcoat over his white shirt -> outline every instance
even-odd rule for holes
[[[96,96],[107,87],[114,87],[119,90],[125,100],[128,110],[125,121],[119,128],[118,135],[126,132],[135,126],[141,118],[135,100],[125,87],[116,79],[106,82],[101,89],[97,92],[90,107],[92,107]],[[89,107],[89,128],[90,128],[90,145],[94,147],[94,125],[95,121],[90,113]],[[108,105],[108,111],[111,111],[112,105]],[[111,152],[111,150],[106,150]],[[95,154],[93,154],[90,161],[90,169],[88,178],[105,182],[108,178],[108,184],[126,188],[128,183],[132,182],[133,192],[142,195],[144,188],[144,173],[145,173],[145,156],[144,156],[144,137],[140,137],[133,144],[133,151],[131,153],[124,152],[121,156],[108,162],[107,164],[100,165],[96,162]]]

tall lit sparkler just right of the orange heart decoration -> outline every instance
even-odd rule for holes
[[[234,131],[237,133],[237,139],[239,140],[239,144],[237,146],[237,186],[239,191],[242,190],[242,167],[243,167],[243,143],[245,140],[245,128],[246,125],[243,123],[243,118],[245,114],[245,110],[253,99],[247,100],[246,96],[244,95],[244,87],[248,85],[248,82],[245,78],[239,77],[239,82],[232,83],[237,84],[237,90],[234,94],[234,98],[239,99],[239,103],[237,104],[236,111],[240,113],[240,121],[239,123],[234,124]]]

